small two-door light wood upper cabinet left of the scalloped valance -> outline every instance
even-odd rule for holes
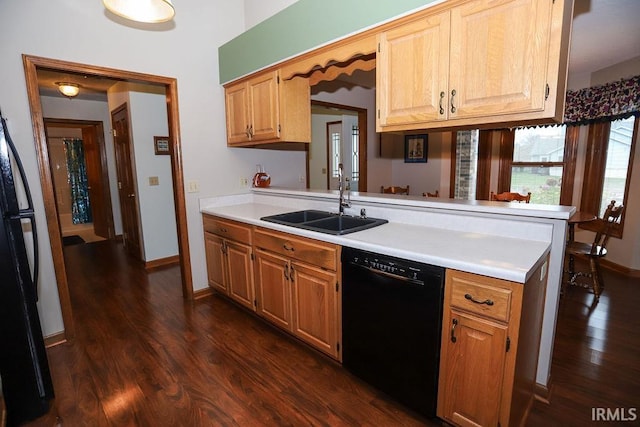
[[[303,78],[266,71],[225,87],[227,144],[310,142],[311,97]]]

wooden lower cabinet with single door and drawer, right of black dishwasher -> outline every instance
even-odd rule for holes
[[[545,269],[524,285],[447,270],[440,418],[459,426],[525,424],[534,399]]]

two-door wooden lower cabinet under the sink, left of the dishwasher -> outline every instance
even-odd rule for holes
[[[339,247],[256,229],[258,314],[340,359]]]

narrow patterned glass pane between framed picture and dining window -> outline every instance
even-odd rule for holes
[[[454,198],[475,200],[480,131],[465,130],[456,134],[456,180]]]

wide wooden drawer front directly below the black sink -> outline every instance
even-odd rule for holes
[[[308,262],[327,270],[336,271],[338,251],[335,245],[287,233],[257,228],[254,244],[262,249],[288,258]]]

